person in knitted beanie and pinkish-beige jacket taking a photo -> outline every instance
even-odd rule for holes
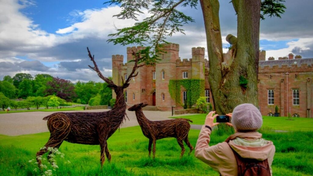
[[[215,111],[209,112],[205,123],[200,131],[195,156],[212,167],[221,175],[239,175],[237,159],[235,153],[240,157],[254,159],[254,161],[268,162],[267,170],[263,171],[272,175],[271,165],[275,154],[273,142],[262,138],[262,134],[257,130],[262,126],[263,119],[260,111],[252,104],[241,104],[234,108],[233,113],[227,114],[231,117],[231,123],[226,123],[234,127],[235,133],[229,136],[225,142],[209,146],[212,127],[219,123],[213,120],[218,116]]]

